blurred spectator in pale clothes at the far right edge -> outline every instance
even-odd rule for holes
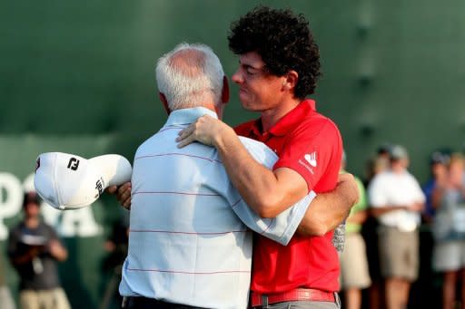
[[[464,158],[459,153],[450,156],[444,181],[432,191],[432,206],[436,208],[432,232],[435,240],[433,268],[443,274],[442,308],[455,308],[455,300],[465,308],[465,175]],[[456,297],[461,282],[460,297]]]

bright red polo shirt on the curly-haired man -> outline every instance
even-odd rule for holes
[[[268,132],[261,120],[236,127],[239,135],[260,140],[280,157],[273,169],[297,171],[309,190],[331,191],[341,168],[342,140],[336,125],[315,110],[315,102],[302,101]],[[339,290],[339,260],[331,242],[323,237],[294,235],[288,246],[257,236],[253,243],[252,286],[262,294],[289,291],[296,287],[324,291]]]

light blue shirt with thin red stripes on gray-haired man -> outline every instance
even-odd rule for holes
[[[208,308],[246,308],[252,232],[286,245],[314,198],[272,219],[242,200],[218,151],[201,143],[177,148],[175,138],[204,108],[173,111],[163,128],[136,151],[129,252],[120,294]],[[261,142],[241,138],[271,169],[277,159]]]

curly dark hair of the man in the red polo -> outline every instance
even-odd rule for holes
[[[320,51],[303,14],[257,6],[231,24],[228,41],[235,54],[260,54],[268,72],[276,76],[299,73],[295,97],[304,99],[315,91],[322,75]]]

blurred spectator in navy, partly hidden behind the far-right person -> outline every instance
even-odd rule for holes
[[[432,203],[434,189],[438,186],[443,187],[447,180],[447,165],[449,156],[440,151],[434,151],[430,158],[430,179],[423,186],[423,192],[426,197],[423,218],[426,223],[430,223],[434,217],[435,207]]]

